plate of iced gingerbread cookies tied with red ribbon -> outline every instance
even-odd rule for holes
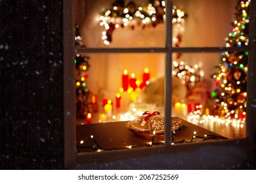
[[[172,118],[171,131],[179,131],[182,127],[180,118]],[[142,116],[131,120],[127,123],[127,129],[133,133],[147,139],[152,139],[153,135],[156,139],[164,138],[165,120],[160,112],[144,112]]]

